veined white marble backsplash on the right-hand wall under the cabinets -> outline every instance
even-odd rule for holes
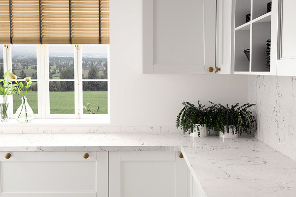
[[[255,103],[255,137],[296,160],[296,77],[249,76],[248,102]]]

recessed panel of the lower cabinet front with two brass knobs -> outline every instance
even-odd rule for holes
[[[96,191],[96,162],[2,162],[2,192]]]

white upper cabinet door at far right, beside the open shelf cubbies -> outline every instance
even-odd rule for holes
[[[272,0],[272,75],[296,76],[296,0]]]

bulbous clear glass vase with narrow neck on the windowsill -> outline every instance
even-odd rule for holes
[[[34,113],[27,98],[22,98],[22,104],[15,112],[15,118],[20,123],[30,123],[34,119]]]

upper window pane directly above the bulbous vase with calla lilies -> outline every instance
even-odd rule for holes
[[[12,72],[18,79],[37,79],[37,47],[11,46]]]

